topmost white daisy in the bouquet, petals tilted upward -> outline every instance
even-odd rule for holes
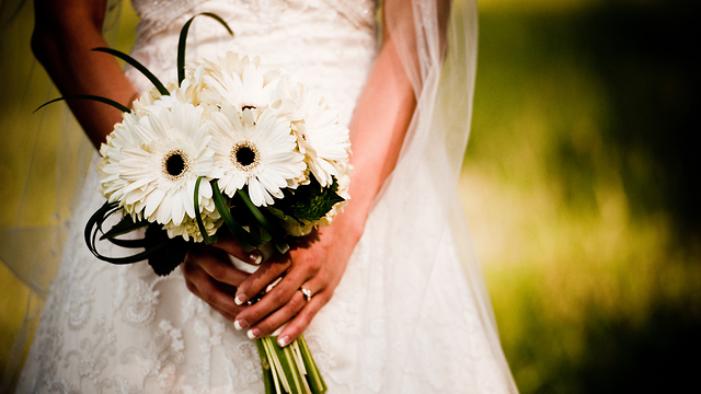
[[[276,101],[279,92],[280,72],[263,71],[261,59],[227,53],[219,63],[202,60],[188,68],[188,95],[208,105],[232,105],[239,112],[246,108],[263,108]]]

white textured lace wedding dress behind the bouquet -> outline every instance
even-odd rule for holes
[[[161,80],[176,77],[182,25],[194,14],[214,12],[234,36],[209,19],[196,20],[189,59],[227,50],[260,56],[263,67],[281,69],[321,92],[343,124],[378,48],[372,0],[135,0],[134,5],[141,22],[133,56]],[[430,86],[430,72],[413,71],[415,85]],[[127,74],[137,89],[150,89],[136,70]],[[437,99],[426,105],[421,97],[420,108],[440,104]],[[455,206],[443,204],[455,198],[432,186],[433,172],[450,158],[432,157],[432,136],[416,131],[425,121],[418,117],[412,124],[397,173],[376,201],[334,297],[304,332],[330,393],[516,391],[482,279],[474,266],[472,271],[463,266],[473,259],[469,239]],[[263,393],[254,343],[193,296],[180,268],[158,277],[146,263],[114,266],[91,255],[83,227],[104,202],[94,165],[19,392]],[[422,209],[432,206],[443,208]]]

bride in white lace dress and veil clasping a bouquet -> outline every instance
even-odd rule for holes
[[[289,322],[278,343],[303,332],[330,393],[515,393],[456,196],[476,50],[467,2],[387,0],[378,22],[374,0],[134,0],[133,56],[161,80],[175,78],[183,24],[212,12],[234,35],[197,19],[189,59],[260,56],[322,93],[350,129],[352,199],[313,242],[255,274],[228,255],[256,256],[222,240],[158,277],[95,260],[82,243],[103,204],[91,171],[19,392],[262,393],[250,338]],[[68,3],[36,0],[32,40],[62,95],[126,104],[150,89],[90,51],[106,46],[105,3]],[[122,120],[100,103],[69,105],[95,147]]]

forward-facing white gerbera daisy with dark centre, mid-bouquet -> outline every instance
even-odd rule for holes
[[[215,166],[221,172],[219,187],[229,197],[249,186],[249,196],[256,206],[283,198],[281,188],[303,175],[307,165],[299,153],[290,124],[273,108],[255,117],[252,109],[239,112],[227,106],[212,114]]]

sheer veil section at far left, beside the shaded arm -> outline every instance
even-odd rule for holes
[[[114,43],[122,0],[107,0],[103,34]],[[0,117],[0,264],[28,288],[12,297],[25,310],[0,392],[8,392],[21,369],[43,300],[60,263],[68,222],[88,173],[94,148],[65,104],[41,104],[58,96],[30,47],[33,5],[27,0],[0,1],[0,48],[5,88]],[[4,283],[3,283],[4,285]],[[23,305],[23,306],[22,306]],[[3,339],[5,339],[3,337]]]

